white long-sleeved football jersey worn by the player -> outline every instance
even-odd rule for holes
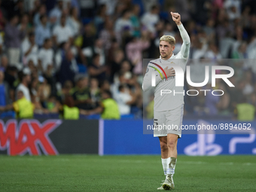
[[[167,60],[163,60],[161,57],[160,59],[151,60],[143,79],[142,89],[144,91],[154,88],[154,111],[167,111],[184,104],[184,87],[175,86],[175,76],[167,79],[160,77],[160,73],[163,72],[161,68],[165,69],[166,66],[169,66],[169,69],[171,65],[180,66],[184,75],[189,55],[190,38],[184,26],[178,26],[178,29],[183,39],[181,51],[177,55],[172,54]],[[156,87],[152,87],[152,72],[156,77]],[[184,81],[184,78],[182,81]]]

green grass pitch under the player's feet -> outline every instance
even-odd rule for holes
[[[0,191],[158,191],[160,156],[0,156]],[[256,191],[255,156],[179,156],[174,191]]]

